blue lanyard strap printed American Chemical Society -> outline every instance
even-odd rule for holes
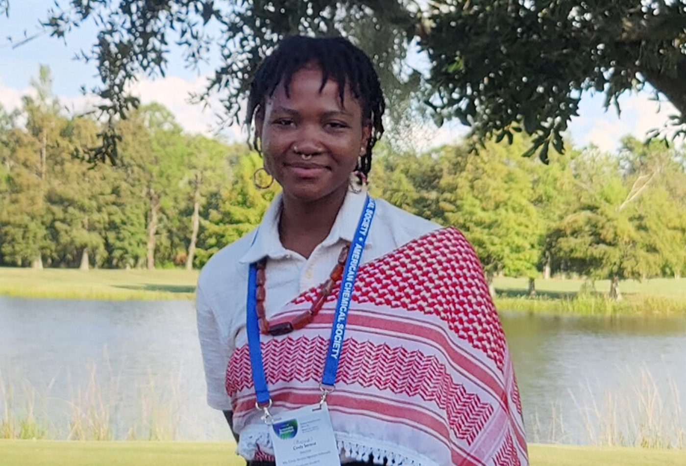
[[[333,387],[336,380],[336,372],[338,371],[338,362],[341,355],[343,336],[345,334],[345,327],[348,318],[348,308],[353,295],[353,286],[355,285],[355,278],[357,277],[357,269],[359,268],[360,260],[362,259],[362,251],[367,240],[367,233],[374,218],[374,211],[376,209],[376,202],[367,196],[364,209],[359,217],[355,237],[350,245],[348,251],[348,258],[343,269],[343,277],[341,281],[341,288],[338,292],[338,302],[336,303],[335,314],[333,314],[333,325],[331,325],[331,337],[329,338],[329,350],[327,351],[327,360],[324,364],[324,373],[322,375],[322,385]],[[255,281],[257,281],[257,266],[250,264],[250,272],[248,273],[248,300],[247,300],[247,332],[248,332],[248,349],[250,350],[250,367],[252,369],[252,382],[255,384],[255,395],[257,395],[258,404],[267,404],[270,402],[269,389],[267,388],[267,380],[264,374],[264,366],[262,364],[262,351],[259,344],[259,325],[257,323],[257,310],[255,301]]]

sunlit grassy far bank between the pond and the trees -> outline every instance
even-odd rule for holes
[[[73,270],[0,268],[0,297],[102,301],[188,301],[195,298],[198,270]],[[528,280],[499,278],[493,300],[501,312],[598,316],[685,316],[686,279],[622,282],[622,301],[606,298],[607,281],[596,292],[576,297],[583,281],[536,282],[528,297]]]

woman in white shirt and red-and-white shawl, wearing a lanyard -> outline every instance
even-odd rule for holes
[[[379,78],[343,38],[283,40],[248,100],[282,192],[198,280],[209,405],[249,465],[526,465],[473,249],[366,194]]]

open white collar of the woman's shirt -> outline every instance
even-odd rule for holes
[[[281,202],[283,195],[279,193],[264,214],[262,221],[252,237],[252,244],[248,251],[239,259],[242,264],[252,264],[263,257],[270,259],[282,259],[292,252],[288,251],[281,244],[279,238],[279,218],[281,217]],[[331,226],[329,235],[322,241],[323,246],[331,246],[339,240],[352,242],[359,222],[359,215],[362,213],[364,203],[367,198],[366,189],[359,192],[348,189],[343,200],[343,205],[336,215],[336,220]],[[371,238],[367,238],[366,246],[371,246]]]

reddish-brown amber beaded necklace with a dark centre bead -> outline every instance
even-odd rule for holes
[[[309,310],[303,312],[299,316],[296,316],[290,321],[279,322],[279,323],[269,323],[265,317],[264,311],[264,299],[267,296],[264,284],[266,281],[264,269],[267,266],[267,258],[261,259],[257,262],[257,279],[255,280],[255,310],[257,311],[257,323],[259,325],[259,331],[263,335],[285,335],[289,334],[294,330],[302,329],[305,325],[309,324],[314,316],[316,316],[322,309],[324,302],[327,301],[327,297],[331,294],[333,290],[333,285],[342,277],[343,268],[345,267],[345,261],[348,258],[348,249],[350,248],[350,243],[346,243],[341,249],[338,255],[338,263],[333,266],[331,274],[327,281],[324,281],[322,286],[319,288],[319,296],[312,303]]]

